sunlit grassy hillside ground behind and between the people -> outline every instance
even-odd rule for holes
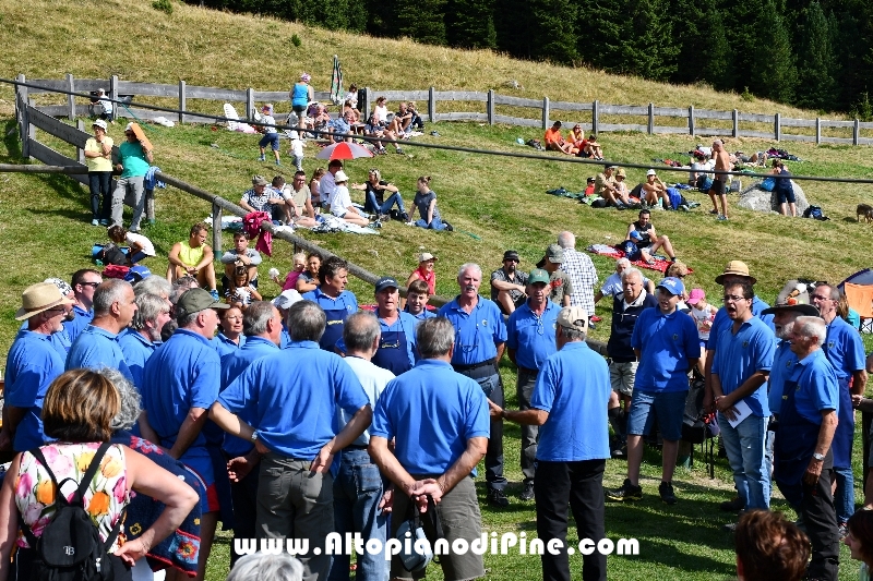
[[[10,77],[23,72],[28,77],[59,77],[72,72],[79,77],[119,74],[134,81],[175,83],[184,78],[190,84],[242,88],[285,89],[301,70],[314,75],[319,89],[330,84],[330,59],[339,55],[348,81],[376,88],[440,88],[485,90],[517,80],[525,88],[514,94],[552,99],[600,99],[615,104],[644,104],[714,109],[738,108],[750,112],[780,111],[800,116],[800,111],[763,101],[746,102],[736,95],[721,95],[702,87],[671,87],[633,78],[607,76],[600,73],[512,61],[489,52],[461,52],[422,47],[409,41],[376,40],[366,37],[303,28],[270,19],[250,19],[175,4],[167,17],[148,8],[148,2],[121,3],[107,0],[100,9],[74,4],[69,0],[48,3],[34,1],[13,3],[0,0],[0,39],[5,55],[0,75]],[[291,34],[298,34],[302,47],[294,48]],[[20,145],[10,119],[11,93],[0,90],[3,109],[0,143],[0,164],[20,162]],[[117,141],[123,125],[110,128]],[[433,129],[431,126],[428,128]],[[441,137],[429,135],[418,143],[469,146],[485,149],[530,153],[514,144],[518,136],[537,136],[540,132],[506,126],[479,126],[474,123],[441,123]],[[40,138],[45,137],[40,135]],[[172,175],[228,199],[238,199],[248,187],[253,173],[272,177],[272,164],[259,164],[256,137],[212,131],[208,126],[153,128],[150,137],[155,144],[156,165]],[[648,164],[653,158],[677,157],[703,140],[689,136],[646,136],[636,133],[602,134],[607,157],[618,162]],[[731,150],[755,150],[773,145],[760,140],[732,140]],[[785,144],[784,144],[785,145]],[[69,146],[59,150],[72,154]],[[802,164],[789,164],[798,174],[854,177],[873,179],[873,150],[868,147],[820,146],[788,144],[803,158]],[[378,167],[394,182],[407,203],[411,199],[418,175],[433,177],[443,215],[457,228],[453,233],[426,232],[392,222],[380,235],[306,234],[324,247],[339,253],[366,268],[398,277],[415,267],[415,255],[421,250],[433,252],[438,263],[438,291],[444,295],[455,292],[453,279],[457,266],[474,261],[486,270],[500,265],[505,249],[519,251],[523,268],[530,268],[542,256],[555,234],[572,230],[578,245],[614,243],[633,216],[614,209],[593,210],[567,199],[545,194],[563,185],[578,191],[587,175],[598,166],[567,164],[553,154],[543,159],[487,157],[481,155],[416,148],[405,146],[407,156],[388,154],[374,159],[349,162],[346,172],[352,181],[362,181],[367,170]],[[307,149],[304,168],[311,172],[323,166],[313,159],[314,147]],[[289,177],[286,166],[279,172]],[[645,171],[629,170],[629,183],[642,181]],[[661,171],[666,174],[665,171]],[[669,174],[684,180],[684,174]],[[705,195],[691,194],[704,203],[691,214],[657,213],[658,229],[670,235],[679,256],[689,263],[695,275],[686,279],[703,287],[710,300],[718,301],[715,276],[732,258],[746,261],[760,283],[757,291],[772,301],[782,282],[796,276],[839,281],[847,275],[869,266],[865,249],[870,226],[854,222],[854,206],[870,202],[866,185],[800,182],[808,197],[824,207],[832,217],[828,222],[787,219],[775,215],[732,209],[729,222],[716,222],[706,210]],[[354,196],[360,201],[359,196]],[[736,196],[731,199],[736,206]],[[158,191],[157,223],[145,233],[155,242],[158,254],[187,235],[188,228],[208,215],[208,206],[175,190]],[[105,240],[105,232],[89,226],[86,192],[62,177],[25,177],[0,174],[0,356],[5,354],[17,324],[13,313],[20,303],[22,289],[49,276],[69,275],[89,264],[92,243]],[[463,232],[470,232],[478,238]],[[225,239],[227,245],[228,239]],[[275,246],[274,256],[265,267],[285,270],[290,265],[291,250],[285,244]],[[146,263],[148,264],[148,263]],[[595,257],[605,278],[613,268],[609,259]],[[157,257],[148,266],[163,273],[166,259]],[[352,281],[352,290],[361,301],[369,301],[371,289]],[[263,279],[267,296],[278,288]],[[488,292],[485,285],[483,292]],[[598,305],[598,314],[607,318],[609,305]],[[607,337],[606,326],[594,336]],[[511,365],[502,368],[504,382],[514,404],[512,386],[515,382]],[[517,469],[518,431],[507,428],[506,471],[514,483],[521,479]],[[859,446],[856,449],[860,450]],[[860,452],[858,452],[860,455]],[[647,497],[636,506],[611,506],[607,510],[607,530],[612,538],[637,537],[641,556],[610,558],[610,579],[727,579],[732,577],[733,554],[729,534],[720,525],[730,517],[714,515],[715,504],[731,495],[731,483],[723,461],[717,479],[705,476],[702,464],[680,469],[677,493],[680,504],[665,508],[653,498],[659,477],[659,457],[648,453],[644,464],[644,487]],[[858,467],[860,471],[860,467]],[[860,472],[859,472],[860,473]],[[621,462],[611,461],[607,469],[608,485],[619,485],[624,475]],[[859,482],[860,486],[860,482]],[[519,487],[513,485],[511,494]],[[859,491],[860,494],[860,491]],[[776,506],[785,509],[781,500]],[[509,510],[495,511],[485,507],[488,531],[528,531],[533,534],[533,505],[513,499]],[[571,533],[571,536],[575,533]],[[226,559],[226,537],[219,543],[218,557],[211,567],[211,581],[223,579]],[[857,565],[849,562],[844,549],[841,580],[857,578]],[[576,561],[574,561],[576,562]],[[489,557],[490,578],[499,580],[534,579],[539,576],[538,559]],[[574,565],[577,567],[577,565]],[[576,569],[577,570],[577,569]],[[434,579],[440,574],[431,573]]]

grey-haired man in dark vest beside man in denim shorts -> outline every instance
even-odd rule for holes
[[[615,438],[611,453],[621,457],[626,453],[627,412],[634,395],[636,368],[639,360],[631,346],[631,337],[637,317],[646,308],[658,306],[658,301],[643,288],[643,273],[627,267],[621,274],[622,291],[612,299],[612,325],[610,327],[607,354],[610,359],[609,382],[612,397],[609,399],[609,423]]]

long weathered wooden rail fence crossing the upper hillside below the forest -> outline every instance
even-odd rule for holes
[[[19,75],[19,81],[24,82],[24,75]],[[258,102],[287,104],[288,93],[285,90],[254,90],[246,89],[225,89],[214,87],[202,87],[187,85],[184,81],[179,81],[177,85],[134,83],[121,81],[118,76],[109,78],[74,78],[68,74],[63,80],[32,80],[29,84],[38,85],[44,88],[24,88],[25,102],[31,102],[33,95],[56,93],[65,90],[71,93],[93,92],[97,88],[107,88],[108,96],[118,99],[119,96],[131,95],[134,101],[139,97],[163,97],[174,99],[177,106],[172,113],[154,111],[135,107],[118,107],[119,117],[136,117],[139,119],[154,120],[157,117],[166,117],[182,123],[206,123],[208,119],[187,114],[189,101],[211,100],[226,101],[230,104],[241,104],[243,111],[241,117],[248,117],[255,110]],[[20,87],[22,88],[22,87]],[[597,100],[593,102],[570,102],[551,101],[548,97],[542,99],[529,99],[498,95],[494,90],[488,93],[480,92],[458,92],[458,90],[436,90],[430,87],[427,90],[376,90],[364,87],[361,90],[359,108],[361,111],[369,110],[369,104],[376,96],[384,96],[391,101],[415,100],[427,102],[427,110],[421,110],[424,121],[435,123],[439,121],[477,121],[481,123],[548,129],[554,121],[562,123],[579,123],[582,128],[593,134],[618,131],[637,131],[641,133],[653,134],[683,134],[694,136],[725,136],[725,137],[761,137],[765,140],[810,142],[810,143],[836,143],[850,145],[871,145],[873,136],[862,136],[863,131],[873,130],[873,123],[852,121],[834,121],[822,118],[815,119],[794,119],[782,117],[780,113],[758,114],[743,113],[734,109],[732,111],[716,111],[709,109],[697,109],[694,106],[687,108],[678,107],[656,107],[654,104],[627,106],[627,105],[607,105]],[[330,100],[326,92],[316,92],[315,98],[319,100]],[[67,117],[75,119],[87,114],[86,102],[82,102],[72,95],[67,96],[64,105],[47,105],[39,107],[40,111],[50,117]],[[452,102],[474,104],[473,108],[482,110],[441,112],[438,106]],[[509,112],[519,112],[518,110],[530,110],[530,117],[514,117],[504,114]],[[200,111],[205,112],[205,111]],[[220,114],[220,112],[219,112]],[[636,123],[613,123],[608,122],[609,118],[638,118]],[[626,119],[622,119],[623,121]],[[658,123],[660,121],[661,124]],[[717,126],[718,125],[718,126]],[[752,125],[752,126],[749,126]],[[791,133],[792,128],[805,129],[805,132]],[[827,131],[832,130],[832,131]],[[851,134],[850,137],[838,137],[825,135],[824,133]],[[805,133],[805,134],[804,134]],[[869,133],[873,135],[873,132]]]

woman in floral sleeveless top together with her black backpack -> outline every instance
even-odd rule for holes
[[[71,370],[51,384],[43,425],[57,441],[17,455],[0,488],[0,581],[49,574],[129,580],[133,562],[176,531],[199,501],[193,488],[152,460],[109,444],[120,406],[112,383],[91,370]],[[131,489],[166,507],[140,537],[124,542],[118,533]]]

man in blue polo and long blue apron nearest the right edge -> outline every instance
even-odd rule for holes
[[[854,477],[852,475],[852,441],[854,440],[854,409],[852,396],[862,396],[866,386],[864,343],[858,330],[837,315],[840,291],[837,287],[818,285],[810,302],[818,307],[827,325],[827,338],[822,350],[837,372],[839,382],[839,424],[834,435],[834,472],[837,489],[834,505],[840,536],[848,533],[846,523],[854,512]]]

